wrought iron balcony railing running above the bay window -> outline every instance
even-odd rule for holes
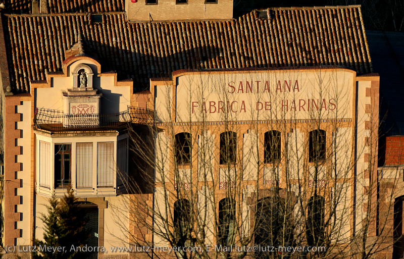
[[[128,106],[128,110],[116,114],[65,114],[59,110],[37,108],[34,125],[48,131],[109,130],[127,127],[128,123],[149,124],[154,120],[153,111]]]

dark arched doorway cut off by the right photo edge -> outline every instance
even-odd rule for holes
[[[402,211],[404,195],[394,200],[394,230],[393,230],[393,259],[404,257],[404,236],[403,236],[403,219]]]

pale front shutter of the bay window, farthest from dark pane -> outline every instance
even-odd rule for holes
[[[112,187],[114,176],[114,142],[97,143],[97,186]]]

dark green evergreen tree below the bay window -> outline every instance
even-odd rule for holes
[[[88,233],[84,227],[85,214],[77,204],[77,198],[73,191],[68,190],[60,201],[57,198],[49,199],[46,206],[47,215],[42,214],[42,221],[45,225],[43,241],[35,240],[36,245],[51,246],[52,248],[62,247],[62,251],[41,251],[34,258],[45,259],[78,259],[86,258],[87,253],[78,251],[77,247],[85,245]],[[71,249],[74,247],[74,249]]]

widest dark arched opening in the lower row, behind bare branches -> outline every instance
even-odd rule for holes
[[[262,247],[291,245],[293,239],[291,212],[285,213],[283,198],[265,197],[258,201],[256,210],[257,228],[254,242]],[[285,220],[284,220],[285,219]],[[258,258],[265,258],[271,252],[257,251]]]

